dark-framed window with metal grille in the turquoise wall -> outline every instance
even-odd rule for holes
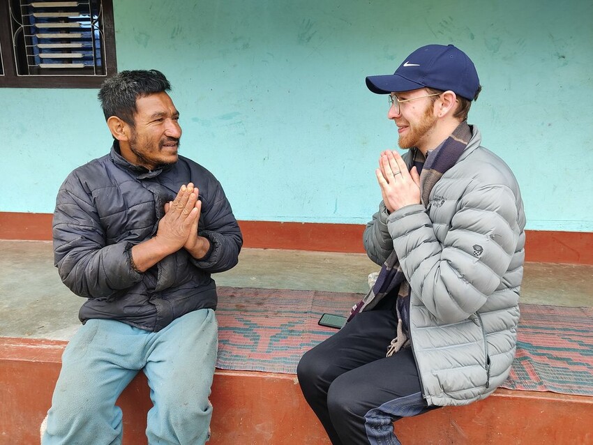
[[[112,0],[0,0],[0,87],[96,88],[116,72]]]

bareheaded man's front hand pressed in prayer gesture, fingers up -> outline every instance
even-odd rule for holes
[[[175,199],[165,204],[165,216],[158,222],[155,238],[170,252],[195,243],[201,209],[193,183],[181,186]]]

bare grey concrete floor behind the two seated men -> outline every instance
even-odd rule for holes
[[[364,254],[248,249],[220,286],[366,292],[379,266]],[[593,266],[527,263],[522,303],[593,306]],[[49,241],[0,240],[0,336],[68,340],[83,300],[64,286]]]

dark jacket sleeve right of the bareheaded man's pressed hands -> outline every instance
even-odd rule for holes
[[[202,259],[191,262],[209,273],[224,272],[239,262],[243,236],[232,213],[231,204],[220,183],[213,179],[213,193],[202,197],[202,215],[198,234],[209,239],[211,248]]]

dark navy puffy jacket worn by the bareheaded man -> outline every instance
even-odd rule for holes
[[[183,248],[145,273],[130,266],[129,250],[156,234],[166,202],[183,184],[200,190],[200,236],[212,248],[203,259]],[[63,283],[88,300],[79,317],[117,319],[159,331],[193,310],[216,309],[210,274],[238,262],[243,239],[223,188],[207,169],[179,156],[149,172],[110,154],[78,167],[63,182],[53,221],[54,264]]]

